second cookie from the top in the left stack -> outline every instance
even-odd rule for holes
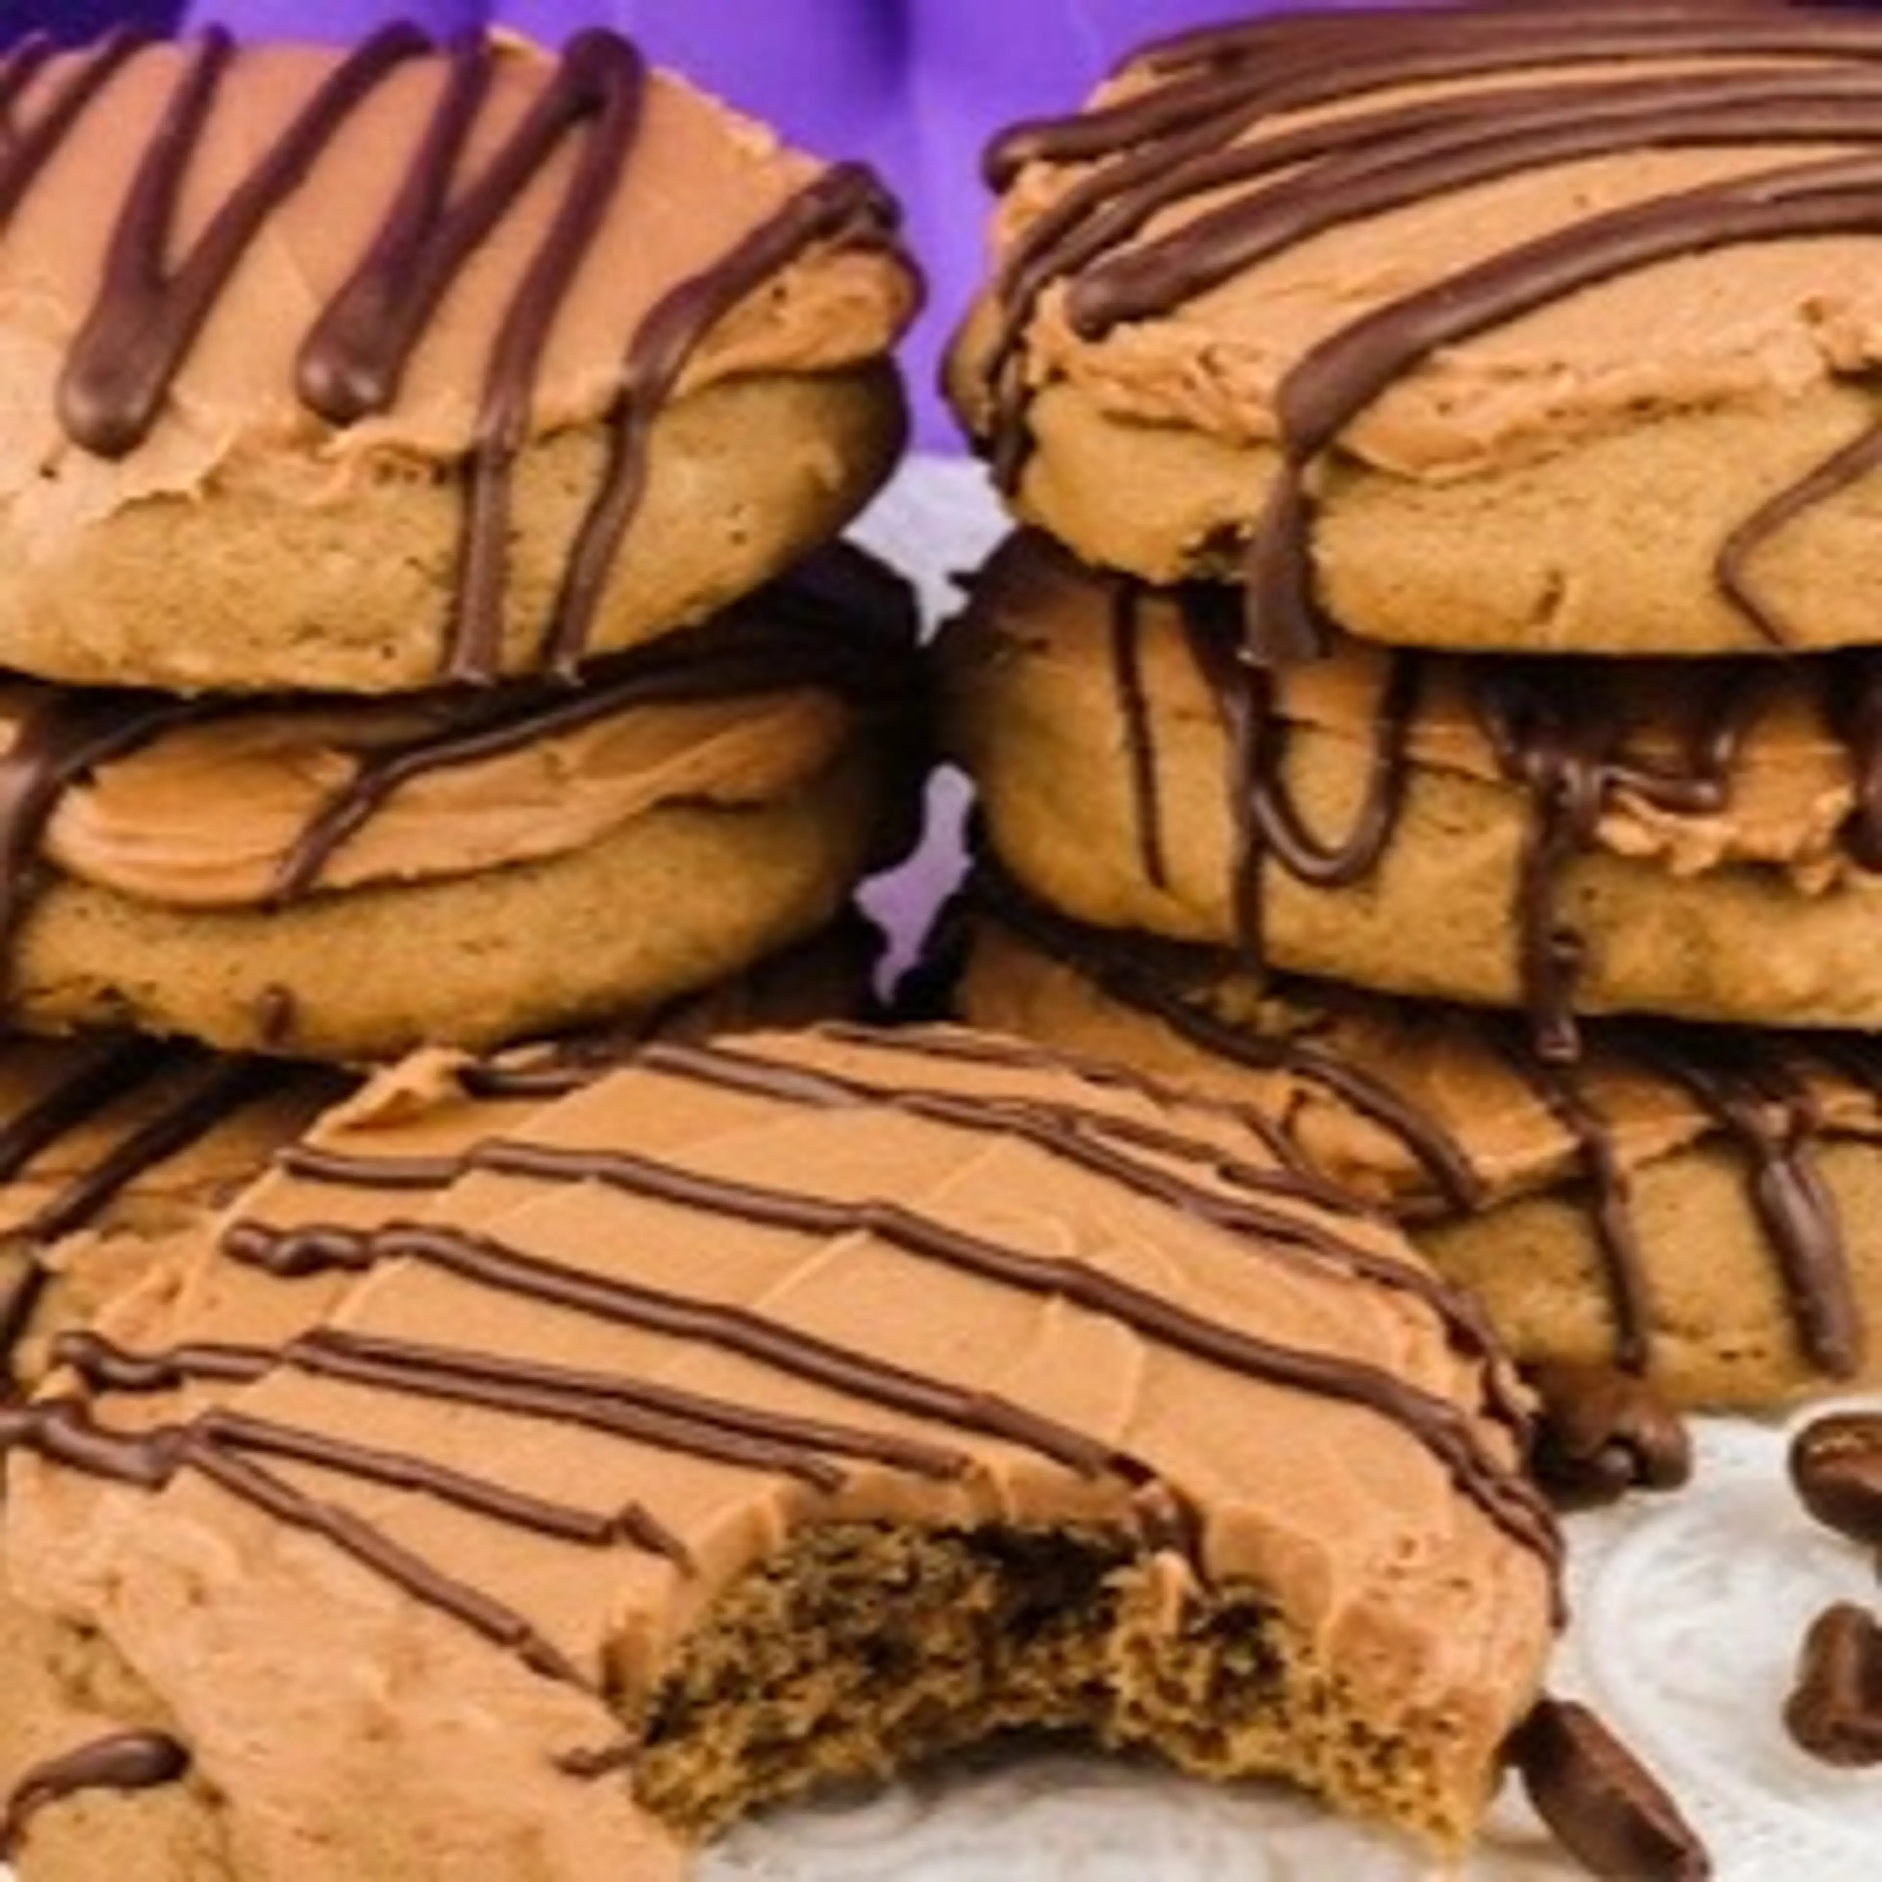
[[[907,839],[913,640],[832,550],[578,689],[0,687],[11,1013],[375,1058],[708,986]]]

